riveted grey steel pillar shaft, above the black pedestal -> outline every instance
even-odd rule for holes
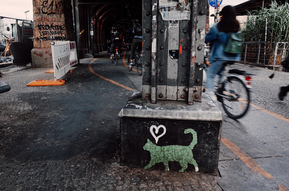
[[[189,20],[164,20],[161,2],[143,1],[142,99],[193,105],[202,94],[207,1],[190,1]]]

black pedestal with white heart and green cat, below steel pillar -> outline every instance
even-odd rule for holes
[[[123,165],[217,173],[222,115],[207,95],[191,106],[133,95],[118,115]]]

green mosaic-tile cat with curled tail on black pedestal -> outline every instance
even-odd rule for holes
[[[182,145],[167,145],[158,146],[147,139],[147,143],[143,146],[143,149],[150,152],[151,160],[149,164],[144,167],[144,169],[149,169],[156,163],[162,162],[165,166],[165,171],[169,171],[168,162],[177,161],[181,165],[181,170],[179,172],[184,172],[188,168],[188,164],[192,164],[195,167],[195,171],[198,172],[198,164],[193,158],[192,149],[197,144],[197,132],[193,129],[186,129],[185,134],[191,133],[193,140],[188,146]]]

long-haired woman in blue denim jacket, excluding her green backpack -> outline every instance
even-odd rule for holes
[[[225,6],[222,11],[222,19],[213,25],[206,34],[205,43],[210,43],[210,67],[207,74],[206,86],[208,94],[214,102],[215,95],[214,78],[223,70],[223,64],[227,61],[240,61],[240,54],[224,53],[224,46],[227,44],[230,33],[240,33],[240,24],[236,19],[236,11],[230,5]]]

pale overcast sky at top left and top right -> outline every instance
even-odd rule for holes
[[[248,0],[223,0],[221,6],[226,5],[239,5]],[[0,16],[16,18],[16,19],[26,19],[33,20],[33,5],[32,0],[0,0]],[[25,15],[25,11],[28,11]]]

